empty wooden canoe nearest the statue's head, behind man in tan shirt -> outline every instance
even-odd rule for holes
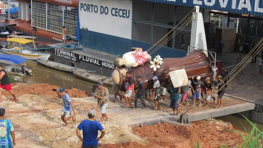
[[[94,73],[88,73],[88,72],[82,72],[82,71],[74,71],[73,74],[76,77],[87,80],[89,82],[98,83],[100,81],[103,81],[103,83],[107,84],[107,86],[112,86],[112,84],[109,83],[112,80],[111,77],[105,77],[101,75],[96,75]]]

